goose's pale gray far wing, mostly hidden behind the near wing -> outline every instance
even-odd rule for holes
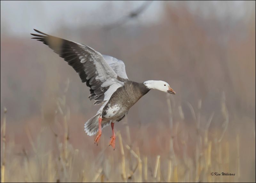
[[[126,72],[125,72],[125,65],[122,60],[118,60],[114,57],[108,55],[102,55],[103,58],[106,60],[108,65],[115,71],[115,73],[124,79],[128,79]]]

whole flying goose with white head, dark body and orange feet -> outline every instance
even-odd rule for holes
[[[111,124],[112,137],[109,145],[115,149],[115,122],[121,121],[129,109],[151,89],[175,94],[170,85],[164,81],[149,80],[137,83],[128,79],[122,60],[102,55],[89,46],[66,39],[50,36],[34,29],[38,34],[31,34],[48,45],[63,58],[79,74],[83,83],[90,87],[90,100],[94,105],[103,105],[97,114],[84,124],[84,130],[89,135],[97,136],[94,143],[100,140],[101,130]]]

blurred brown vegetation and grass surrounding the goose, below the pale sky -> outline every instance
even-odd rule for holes
[[[207,2],[193,3],[198,10],[191,12],[189,2],[163,2],[161,19],[148,26],[46,32],[123,60],[133,81],[164,80],[175,90],[150,91],[130,109],[115,125],[122,136],[115,151],[110,127],[99,146],[84,133],[100,106],[76,72],[31,40],[33,30],[1,34],[5,181],[255,182],[255,2],[243,3],[240,19],[201,16]],[[230,2],[218,3],[232,12]]]

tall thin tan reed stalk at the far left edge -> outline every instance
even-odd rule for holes
[[[3,120],[3,163],[1,167],[1,182],[4,183],[5,181],[5,162],[6,162],[6,138],[5,138],[5,131],[6,131],[6,113],[7,109],[4,107],[4,120]]]

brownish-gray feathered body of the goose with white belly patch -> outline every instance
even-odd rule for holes
[[[124,82],[124,86],[118,88],[108,100],[102,111],[103,121],[120,121],[128,113],[129,109],[146,93],[149,92],[145,84],[134,81]]]

